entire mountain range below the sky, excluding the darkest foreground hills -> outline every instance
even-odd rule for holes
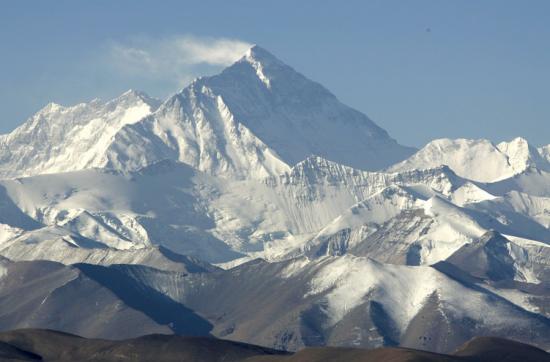
[[[49,104],[0,180],[0,330],[550,349],[550,145],[399,145],[258,46],[164,102]]]

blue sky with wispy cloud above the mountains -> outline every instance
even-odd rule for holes
[[[50,101],[166,97],[259,44],[400,143],[550,143],[550,1],[3,0],[0,133]]]

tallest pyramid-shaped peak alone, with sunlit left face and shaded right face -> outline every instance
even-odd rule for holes
[[[288,171],[313,154],[372,170],[412,152],[255,46],[219,75],[197,79],[154,115],[125,127],[108,158],[119,169],[171,158],[210,174],[258,178]]]

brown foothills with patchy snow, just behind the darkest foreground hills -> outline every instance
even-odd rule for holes
[[[550,321],[537,312],[548,290],[531,298],[527,289],[461,272],[461,260],[412,267],[345,255],[187,273],[4,262],[0,321],[102,338],[213,335],[285,350],[401,345],[444,352],[480,334],[550,347]],[[492,260],[481,271],[507,275]]]

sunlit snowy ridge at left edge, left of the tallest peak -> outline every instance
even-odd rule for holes
[[[74,107],[50,103],[0,136],[0,178],[103,167],[115,134],[150,114],[158,103],[136,91]]]

